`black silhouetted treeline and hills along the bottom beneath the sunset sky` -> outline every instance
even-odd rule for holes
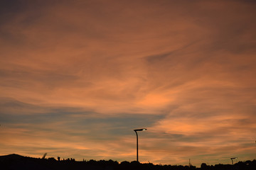
[[[236,164],[215,164],[207,165],[205,163],[201,164],[201,167],[196,166],[182,166],[182,165],[161,165],[161,164],[142,164],[139,162],[116,162],[113,160],[89,160],[77,162],[75,159],[60,159],[56,160],[53,157],[48,159],[23,157],[18,154],[9,154],[6,156],[0,156],[0,169],[3,170],[255,170],[256,160],[238,162]]]

